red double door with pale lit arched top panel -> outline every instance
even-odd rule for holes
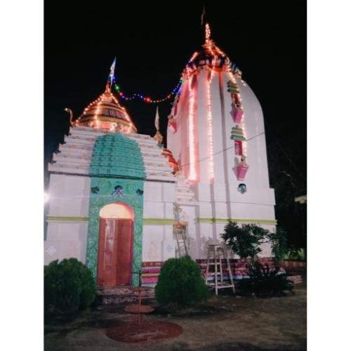
[[[100,209],[98,286],[129,285],[133,264],[134,211],[123,202]]]

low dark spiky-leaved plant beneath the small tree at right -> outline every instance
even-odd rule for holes
[[[259,297],[282,296],[286,291],[293,290],[293,282],[287,279],[286,274],[278,274],[279,267],[270,269],[268,265],[258,262],[248,265],[250,279],[240,282],[240,292],[244,295]]]

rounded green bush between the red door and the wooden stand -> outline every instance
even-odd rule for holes
[[[190,307],[210,296],[199,265],[190,256],[170,258],[161,268],[155,288],[157,302],[165,307]]]

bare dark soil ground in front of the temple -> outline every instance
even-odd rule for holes
[[[230,289],[225,289],[230,290]],[[237,298],[227,293],[207,303],[178,312],[155,307],[147,319],[173,322],[183,327],[176,337],[152,343],[121,343],[106,330],[135,319],[125,305],[105,305],[81,312],[72,321],[52,319],[44,327],[46,351],[89,350],[306,350],[306,286],[298,284],[295,295],[279,298]]]

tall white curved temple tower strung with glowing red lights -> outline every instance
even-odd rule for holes
[[[220,239],[228,218],[274,225],[263,112],[239,69],[211,39],[208,25],[202,50],[183,71],[168,117],[167,145],[197,197],[197,206],[189,209],[198,223],[195,240]],[[193,253],[202,256],[201,246]]]

